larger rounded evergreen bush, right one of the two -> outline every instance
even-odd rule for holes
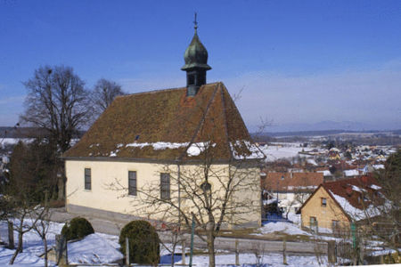
[[[156,229],[146,221],[132,221],[121,230],[119,245],[126,255],[129,243],[129,262],[157,265],[160,263],[160,239]]]

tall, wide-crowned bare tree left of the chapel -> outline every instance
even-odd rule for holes
[[[92,114],[84,81],[70,67],[45,66],[36,69],[34,77],[24,85],[29,94],[21,122],[45,130],[46,137],[61,155],[70,149],[74,134],[86,125]],[[59,173],[61,199],[64,198],[65,178],[62,170]]]

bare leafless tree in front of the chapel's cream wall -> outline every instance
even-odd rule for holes
[[[191,229],[193,218],[195,234],[207,243],[209,266],[215,266],[215,239],[220,231],[249,223],[252,216],[260,220],[259,163],[237,155],[241,159],[219,165],[213,153],[214,142],[192,146],[203,152],[202,160],[198,164],[182,161],[164,166],[160,172],[169,174],[168,195],[160,194],[160,182],[148,182],[138,189],[144,205],[138,211],[146,216],[151,209],[155,217],[166,221],[173,218],[186,229]],[[109,186],[127,195],[127,188],[119,181]]]

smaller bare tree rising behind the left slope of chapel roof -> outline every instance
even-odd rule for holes
[[[124,94],[126,93],[121,89],[121,85],[103,78],[98,80],[96,85],[94,85],[94,92],[92,93],[95,115],[99,116],[102,114],[116,96]]]

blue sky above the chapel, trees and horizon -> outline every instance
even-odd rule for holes
[[[398,0],[0,0],[0,125],[18,121],[22,82],[46,64],[71,66],[88,88],[102,77],[128,93],[185,85],[195,11],[208,81],[242,90],[250,128],[260,117],[401,128]]]

